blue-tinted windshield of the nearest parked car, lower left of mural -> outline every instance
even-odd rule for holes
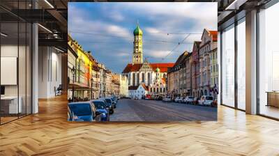
[[[76,116],[90,116],[92,114],[90,104],[70,104],[69,107]]]

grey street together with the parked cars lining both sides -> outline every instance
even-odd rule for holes
[[[217,120],[212,96],[121,98],[107,97],[68,104],[69,121]]]

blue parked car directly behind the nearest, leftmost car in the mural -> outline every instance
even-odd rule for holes
[[[110,120],[110,109],[106,107],[103,100],[91,100],[90,102],[95,105],[97,111],[100,111],[102,121]]]

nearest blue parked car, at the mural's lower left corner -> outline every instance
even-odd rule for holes
[[[91,102],[70,102],[68,107],[74,114],[73,120],[100,121],[101,119],[100,111],[97,111]]]

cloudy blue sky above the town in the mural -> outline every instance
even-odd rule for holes
[[[217,3],[70,2],[68,33],[112,72],[133,56],[133,31],[143,31],[143,56],[150,63],[174,63],[204,28],[217,31]],[[189,34],[190,33],[190,34]]]

